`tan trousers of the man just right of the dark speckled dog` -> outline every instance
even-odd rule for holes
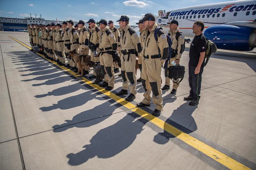
[[[101,53],[100,54],[100,66],[104,66],[105,74],[104,81],[108,83],[108,86],[114,87],[115,82],[115,73],[114,73],[114,66],[113,66],[113,57],[108,53]],[[108,67],[106,69],[106,67]]]

